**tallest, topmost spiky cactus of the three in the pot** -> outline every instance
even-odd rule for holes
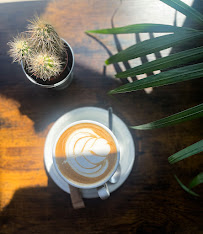
[[[36,16],[30,21],[27,29],[30,44],[36,50],[45,50],[59,55],[64,51],[64,44],[51,24]]]

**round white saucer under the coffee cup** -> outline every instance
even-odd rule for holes
[[[70,193],[68,184],[57,173],[52,159],[52,147],[57,138],[57,133],[61,132],[68,124],[78,120],[95,120],[108,127],[108,111],[96,107],[82,107],[72,110],[60,117],[50,129],[44,147],[44,163],[46,169],[54,182],[65,192]],[[119,188],[130,174],[134,159],[135,147],[131,133],[125,123],[113,114],[113,133],[120,146],[120,166],[121,176],[116,184],[108,182],[110,193]],[[81,189],[84,198],[96,198],[96,189]]]

